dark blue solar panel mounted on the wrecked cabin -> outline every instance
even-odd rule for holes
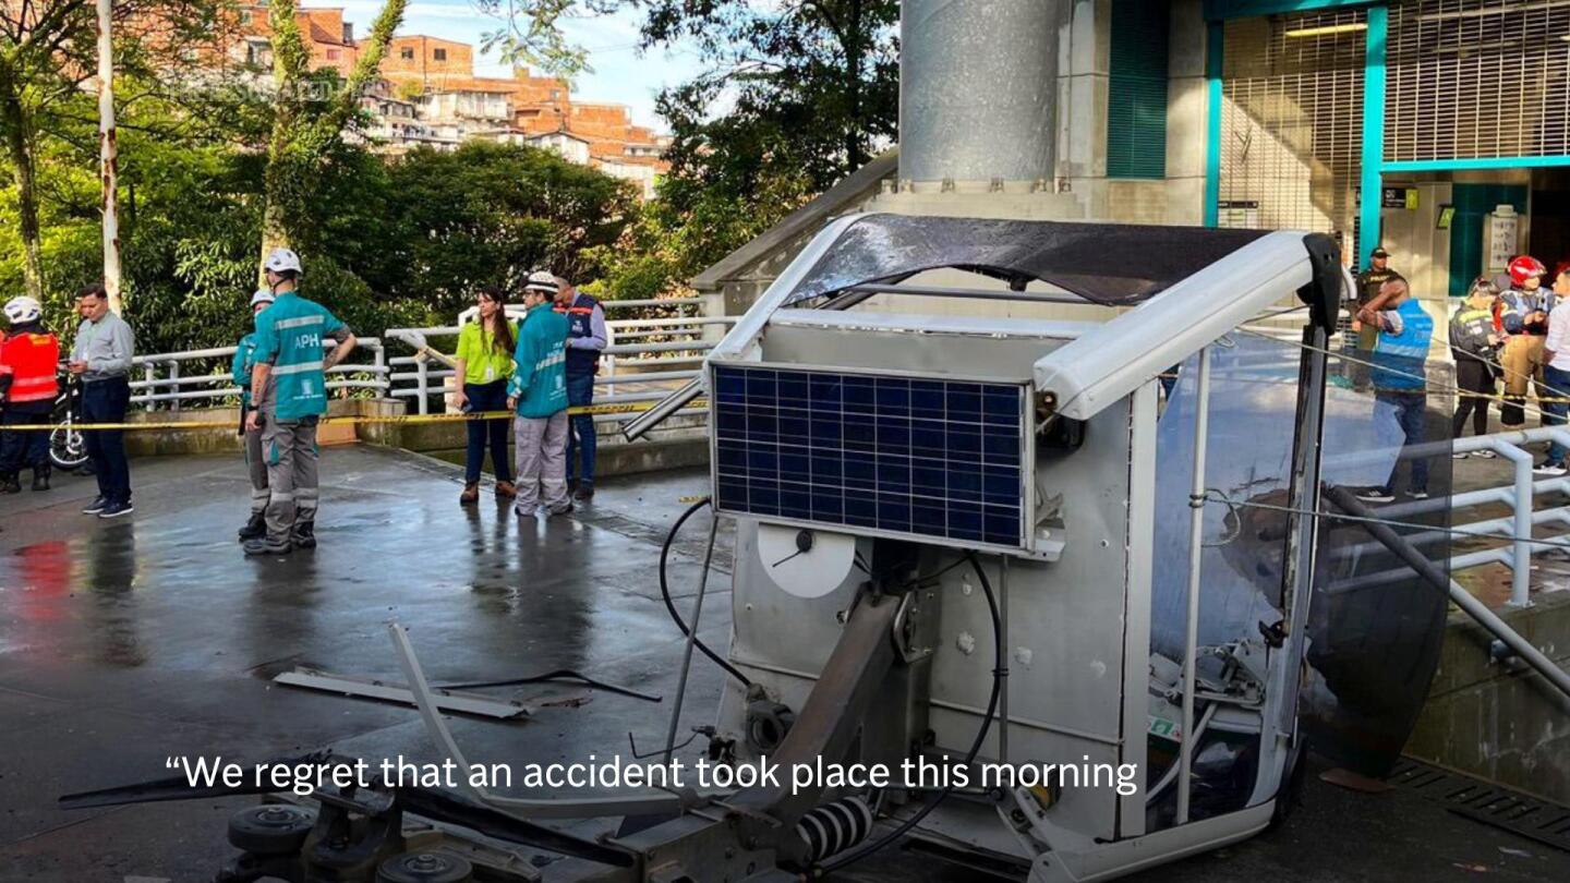
[[[1024,544],[1024,388],[714,366],[724,512]]]

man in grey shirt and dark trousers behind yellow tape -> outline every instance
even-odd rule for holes
[[[124,319],[108,311],[104,286],[89,284],[77,294],[82,325],[71,347],[69,369],[82,382],[82,420],[124,423],[130,405],[130,357],[135,335]],[[126,462],[126,434],[99,429],[83,434],[99,495],[82,512],[99,518],[130,514],[130,465]]]

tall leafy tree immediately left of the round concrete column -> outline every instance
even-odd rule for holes
[[[708,69],[659,97],[670,171],[604,294],[680,286],[893,141],[898,0],[628,3],[645,49],[696,46]]]

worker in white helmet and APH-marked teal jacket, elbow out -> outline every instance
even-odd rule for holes
[[[355,335],[320,303],[300,295],[300,256],[273,248],[262,262],[273,305],[256,317],[251,369],[254,409],[246,432],[261,432],[267,460],[267,536],[245,540],[245,555],[316,548],[316,427],[327,413],[327,371],[355,349]],[[338,341],[322,358],[322,343]]]

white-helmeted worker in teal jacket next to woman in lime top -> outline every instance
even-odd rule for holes
[[[567,495],[567,335],[568,319],[553,310],[556,277],[531,273],[523,288],[528,313],[512,354],[507,407],[517,412],[518,496],[513,512],[559,515],[573,511]]]

